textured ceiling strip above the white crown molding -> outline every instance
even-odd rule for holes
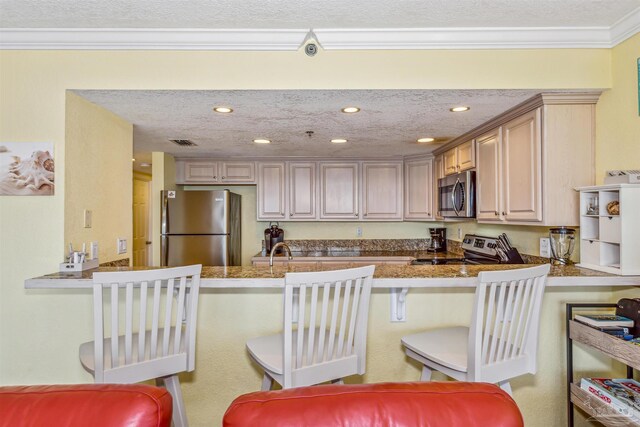
[[[613,25],[640,0],[0,0],[4,28],[446,28]]]

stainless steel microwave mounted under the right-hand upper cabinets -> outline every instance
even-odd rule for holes
[[[476,217],[476,173],[466,171],[438,180],[438,212],[443,217]]]

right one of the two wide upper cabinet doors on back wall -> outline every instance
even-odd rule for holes
[[[402,219],[402,162],[362,163],[362,218]]]

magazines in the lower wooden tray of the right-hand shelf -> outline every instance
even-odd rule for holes
[[[583,378],[580,388],[593,394],[616,412],[640,422],[640,400],[634,391],[611,378]]]

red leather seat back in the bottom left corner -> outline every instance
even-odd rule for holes
[[[169,427],[171,395],[141,384],[0,387],[0,427]]]

